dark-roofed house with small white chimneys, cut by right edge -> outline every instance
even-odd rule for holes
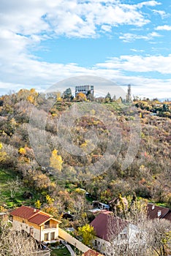
[[[171,209],[155,206],[153,203],[148,203],[147,206],[148,219],[167,219],[171,222]]]

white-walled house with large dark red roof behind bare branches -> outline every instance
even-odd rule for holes
[[[136,225],[114,217],[109,211],[97,215],[91,226],[96,233],[94,249],[104,255],[113,255],[115,244],[135,243],[140,232]]]

